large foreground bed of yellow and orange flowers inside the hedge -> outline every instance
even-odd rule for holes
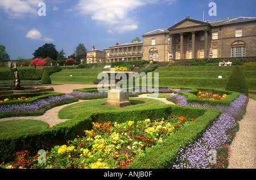
[[[47,163],[38,164],[38,156],[28,157],[27,151],[16,153],[17,161],[9,168],[126,168],[146,149],[162,143],[183,126],[195,121],[188,117],[168,117],[166,120],[150,119],[125,123],[93,122],[92,130],[85,136],[69,140],[67,144],[56,145],[47,152]],[[65,161],[63,161],[65,159]]]

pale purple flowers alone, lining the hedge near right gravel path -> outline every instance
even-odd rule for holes
[[[181,147],[177,150],[176,162],[172,168],[209,168],[209,151],[220,150],[221,145],[230,142],[227,134],[230,128],[236,126],[234,119],[245,107],[248,97],[241,94],[236,100],[230,103],[230,106],[212,106],[208,104],[192,104],[187,102],[185,96],[175,94],[171,96],[176,98],[177,104],[185,106],[197,106],[202,108],[216,108],[222,110],[222,114],[218,117],[213,125],[209,126],[201,138],[193,143],[189,143],[187,147]]]

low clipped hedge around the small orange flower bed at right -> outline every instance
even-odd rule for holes
[[[233,92],[233,91],[224,91],[224,90],[217,90],[217,89],[195,89],[195,88],[190,88],[192,91],[190,92],[178,92],[180,95],[184,95],[187,97],[187,102],[196,102],[199,104],[204,104],[207,103],[209,105],[225,105],[228,106],[230,102],[234,101],[238,96],[240,96],[239,92]],[[208,99],[203,99],[203,98],[197,98],[197,92],[198,91],[212,91],[213,93],[221,93],[221,94],[226,94],[229,95],[225,97],[223,100],[208,100]]]

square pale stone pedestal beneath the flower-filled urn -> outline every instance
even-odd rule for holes
[[[122,92],[117,89],[109,90],[108,101],[105,102],[105,105],[116,107],[130,106],[129,92]]]

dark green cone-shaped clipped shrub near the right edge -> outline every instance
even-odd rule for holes
[[[234,67],[226,83],[225,90],[240,92],[248,96],[248,84],[240,66],[236,65]]]

